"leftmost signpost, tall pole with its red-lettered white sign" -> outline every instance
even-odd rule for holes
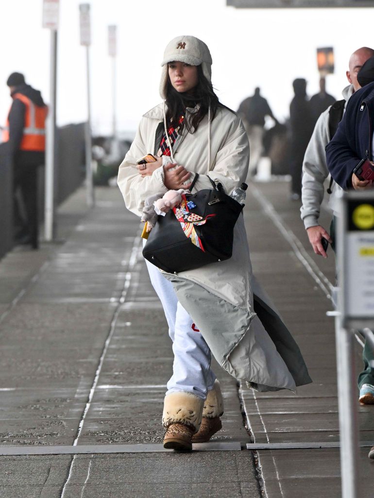
[[[43,27],[51,31],[50,72],[49,72],[49,107],[46,121],[45,148],[45,204],[44,204],[44,237],[51,242],[55,235],[55,131],[56,131],[56,74],[57,74],[57,30],[59,21],[59,0],[44,0]]]

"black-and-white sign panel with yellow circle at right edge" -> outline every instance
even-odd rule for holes
[[[343,312],[349,323],[359,320],[365,325],[367,320],[374,323],[374,195],[353,192],[343,202],[343,233],[337,249],[338,257],[343,256],[338,270]]]

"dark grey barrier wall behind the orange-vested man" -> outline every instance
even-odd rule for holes
[[[12,172],[0,144],[0,258],[13,247]],[[59,205],[85,176],[85,123],[68,124],[56,131],[55,202]],[[39,213],[44,215],[44,168],[39,172]],[[42,234],[41,234],[42,235]]]

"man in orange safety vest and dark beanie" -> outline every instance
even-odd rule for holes
[[[20,227],[15,242],[38,249],[38,166],[44,164],[45,119],[47,106],[38,90],[26,85],[23,74],[12,73],[6,81],[13,102],[10,106],[2,141],[13,170],[13,191],[20,191],[24,216],[15,202],[14,217]]]

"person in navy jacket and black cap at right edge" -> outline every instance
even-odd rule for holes
[[[374,56],[369,58],[357,74],[363,87],[349,99],[346,112],[333,139],[326,146],[327,166],[334,180],[343,190],[372,190],[373,180],[360,180],[353,172],[363,159],[374,166]],[[369,147],[368,147],[369,144]],[[359,374],[359,401],[374,404],[374,351],[365,341],[364,370]],[[373,452],[369,453],[373,458]]]

